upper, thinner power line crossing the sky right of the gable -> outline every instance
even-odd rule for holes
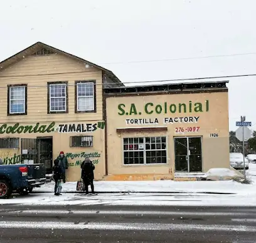
[[[191,58],[171,58],[171,59],[155,59],[155,60],[146,60],[146,61],[126,61],[126,62],[115,62],[115,63],[99,63],[99,65],[114,65],[114,64],[126,64],[126,63],[153,63],[158,61],[179,61],[179,60],[189,60],[189,59],[203,59],[203,58],[223,58],[228,56],[245,56],[252,55],[256,53],[237,53],[237,54],[223,54],[216,56],[198,56]]]

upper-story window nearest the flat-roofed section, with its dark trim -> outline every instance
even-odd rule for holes
[[[75,112],[96,112],[95,81],[75,82]]]

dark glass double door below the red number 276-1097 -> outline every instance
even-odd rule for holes
[[[201,137],[174,138],[175,171],[201,172]]]

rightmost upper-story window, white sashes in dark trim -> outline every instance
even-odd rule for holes
[[[77,111],[94,111],[94,83],[77,83]]]

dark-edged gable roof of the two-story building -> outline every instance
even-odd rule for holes
[[[48,49],[49,51],[52,51],[53,53],[62,54],[63,56],[67,56],[68,58],[75,59],[76,61],[82,61],[83,63],[87,63],[90,66],[93,66],[94,68],[97,68],[99,70],[104,71],[109,75],[115,82],[122,83],[117,76],[114,75],[114,73],[110,70],[107,70],[106,68],[103,68],[102,66],[96,65],[95,63],[91,63],[90,61],[87,61],[82,58],[78,58],[78,56],[74,56],[73,54],[66,53],[65,51],[61,51],[60,49],[54,48],[53,46],[49,46],[48,44],[42,43],[38,41],[35,44],[32,44],[26,49],[23,49],[22,51],[19,51],[19,53],[14,54],[13,56],[5,59],[4,61],[1,61],[0,63],[0,71],[4,70],[10,65],[13,65],[14,63],[20,61],[24,58],[24,56],[31,56],[32,54],[36,53],[37,51],[40,51],[41,49]]]

